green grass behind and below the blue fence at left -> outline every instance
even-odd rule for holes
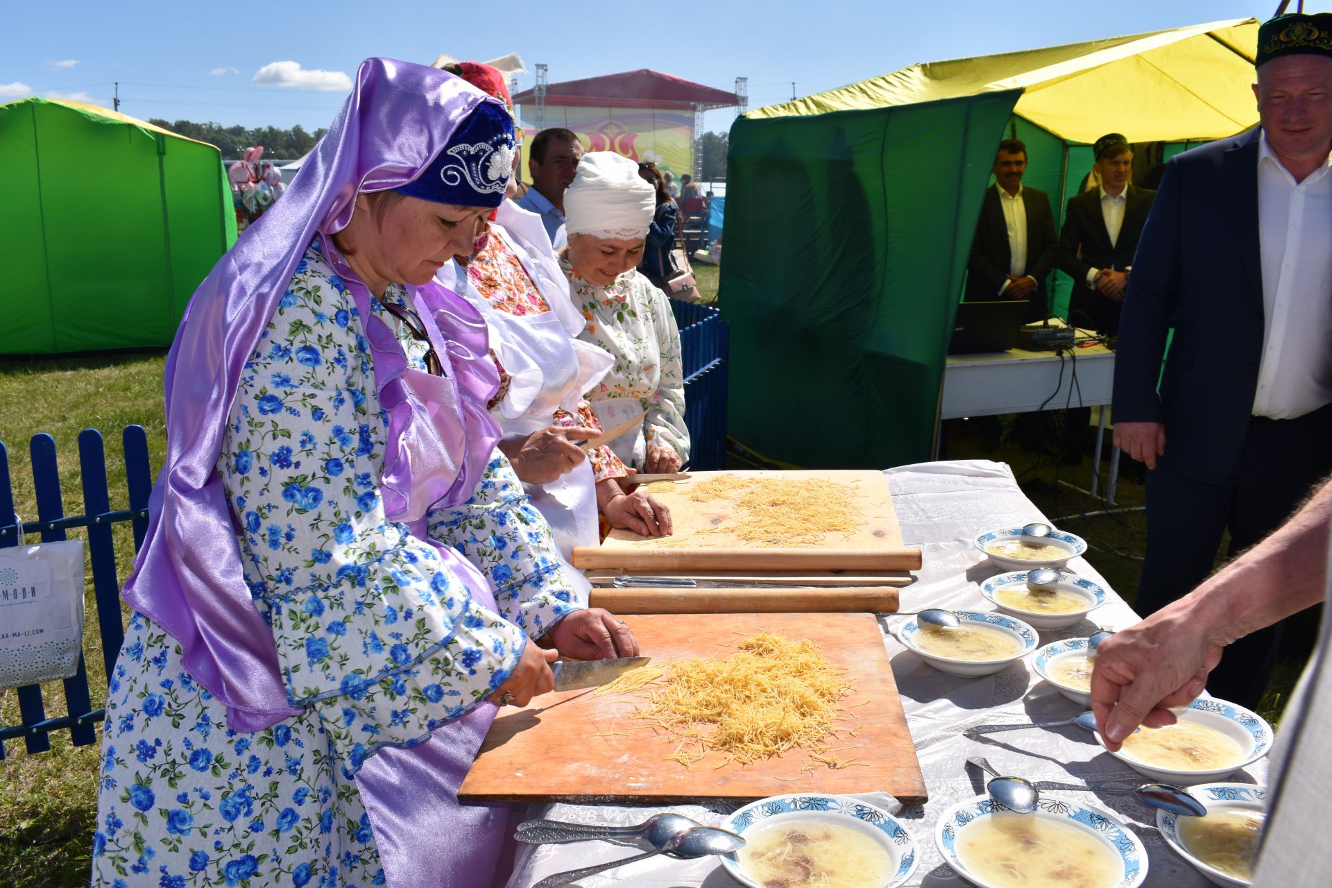
[[[25,521],[37,518],[28,442],[39,431],[55,438],[67,514],[84,513],[77,445],[84,429],[99,429],[105,438],[111,507],[129,507],[120,431],[132,423],[144,426],[153,466],[159,465],[165,447],[163,362],[161,353],[0,359],[0,442],[8,450],[15,506]],[[9,521],[0,515],[0,523]],[[116,568],[124,582],[135,551],[128,522],[117,525],[113,534]],[[85,539],[77,530],[69,531],[69,538]],[[88,687],[93,708],[103,708],[107,672],[91,574],[85,588]],[[67,714],[60,682],[49,682],[41,691],[48,718]],[[20,720],[17,694],[0,691],[0,724]],[[57,731],[51,735],[51,747],[49,752],[28,755],[21,740],[5,743],[7,758],[0,763],[0,873],[7,876],[7,885],[88,884],[100,746],[75,748],[69,732]]]

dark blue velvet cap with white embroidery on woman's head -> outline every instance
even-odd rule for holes
[[[477,105],[453,138],[401,194],[456,206],[500,206],[513,172],[513,117],[503,105]]]

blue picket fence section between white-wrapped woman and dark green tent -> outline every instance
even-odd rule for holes
[[[685,425],[690,469],[726,467],[726,357],[729,325],[710,305],[671,300],[685,365]]]

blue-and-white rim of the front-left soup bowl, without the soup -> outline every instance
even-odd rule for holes
[[[920,860],[915,839],[898,820],[876,805],[859,801],[850,796],[826,796],[809,792],[793,792],[785,796],[759,799],[731,815],[723,824],[725,829],[753,837],[755,832],[785,820],[818,820],[855,829],[878,841],[892,860],[892,875],[882,883],[864,888],[894,888],[900,885],[915,871]],[[745,875],[738,855],[725,855],[722,865],[739,883],[751,888],[763,888]]]

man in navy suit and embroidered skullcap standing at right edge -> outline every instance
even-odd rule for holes
[[[1169,161],[1124,300],[1115,443],[1150,469],[1142,614],[1332,470],[1332,13],[1264,23],[1256,65],[1260,128]],[[1208,691],[1255,707],[1280,638],[1227,648]]]

